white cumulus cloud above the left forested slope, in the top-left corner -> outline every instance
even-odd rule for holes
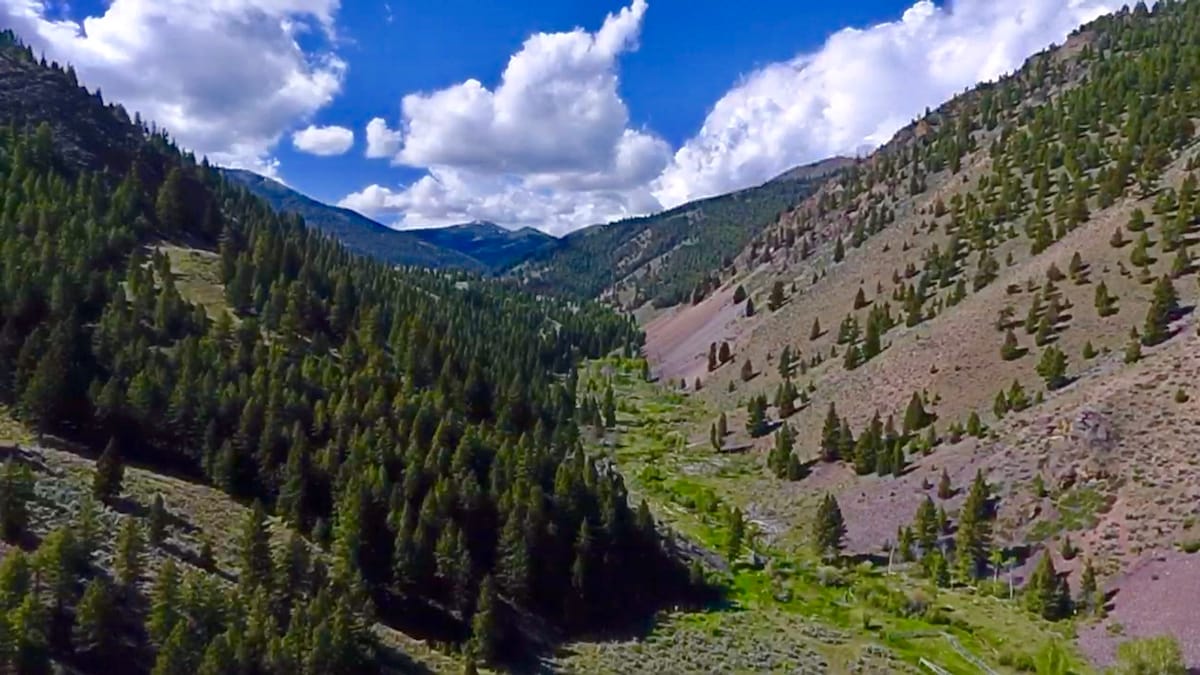
[[[0,25],[74,65],[106,100],[156,121],[212,161],[275,173],[271,150],[341,90],[330,48],[338,0],[112,0],[79,20],[49,0],[0,0]]]

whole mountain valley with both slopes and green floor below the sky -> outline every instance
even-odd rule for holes
[[[563,238],[0,84],[0,670],[1200,669],[1198,0]]]

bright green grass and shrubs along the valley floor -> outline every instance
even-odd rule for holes
[[[607,382],[623,401],[618,430],[594,449],[617,462],[631,495],[648,500],[659,520],[709,550],[722,550],[726,509],[752,514],[764,492],[761,482],[774,480],[761,458],[715,454],[707,442],[712,411],[697,398],[642,382],[631,362],[592,363],[581,372],[581,392],[602,392]],[[1070,518],[1081,519],[1103,498],[1079,494],[1063,502]],[[726,605],[666,615],[641,643],[575,645],[562,664],[595,673],[670,670],[703,656],[709,665],[700,670],[780,670],[800,665],[799,657],[805,667],[827,671],[864,664],[894,671],[928,658],[952,673],[976,673],[974,658],[1010,673],[1010,664],[1027,663],[1069,629],[1004,599],[932,589],[906,572],[823,565],[802,544],[804,522],[787,525],[791,532],[784,534],[751,533],[766,566],[709,572],[726,589]]]

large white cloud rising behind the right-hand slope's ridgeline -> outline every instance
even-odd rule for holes
[[[655,181],[664,205],[746,187],[796,165],[859,154],[919,115],[1124,0],[920,0],[748,74]]]

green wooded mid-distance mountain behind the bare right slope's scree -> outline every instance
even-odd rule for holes
[[[670,306],[702,294],[712,271],[853,160],[835,157],[757,187],[648,216],[587,227],[534,255],[510,275],[538,292],[610,294]]]

